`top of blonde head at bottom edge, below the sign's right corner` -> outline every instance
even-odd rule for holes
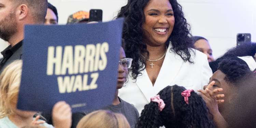
[[[98,110],[84,116],[76,128],[131,128],[124,115]]]

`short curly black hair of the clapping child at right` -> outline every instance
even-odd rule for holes
[[[219,63],[217,70],[222,71],[226,76],[224,80],[230,83],[237,83],[244,77],[253,76],[253,72],[247,65],[239,63],[237,60],[224,59]]]

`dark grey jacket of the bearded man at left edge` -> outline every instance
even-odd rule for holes
[[[8,65],[10,65],[10,63],[18,59],[22,59],[22,46],[19,49],[17,49],[17,51],[5,62],[3,68],[0,70],[0,74]],[[3,59],[0,60],[0,63],[1,61],[3,61]]]

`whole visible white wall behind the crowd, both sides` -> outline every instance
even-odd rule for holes
[[[112,20],[127,0],[48,0],[56,6],[59,24],[80,10],[103,10],[103,22]],[[256,41],[256,0],[179,0],[193,35],[208,39],[213,57],[236,46],[237,33],[251,33]],[[0,40],[0,51],[8,44]],[[0,56],[1,57],[1,56]]]

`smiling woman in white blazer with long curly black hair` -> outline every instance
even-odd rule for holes
[[[133,62],[119,96],[139,112],[168,85],[200,89],[212,75],[207,56],[193,49],[190,26],[176,0],[128,0],[125,17],[126,57]]]

